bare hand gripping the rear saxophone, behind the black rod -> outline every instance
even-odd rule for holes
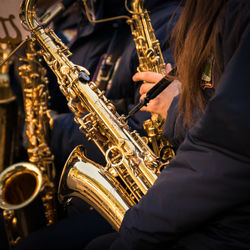
[[[167,65],[167,73],[172,69],[171,65]],[[140,99],[145,98],[146,93],[163,78],[162,74],[154,72],[139,72],[133,76],[133,81],[143,81],[140,88]],[[167,118],[168,109],[173,101],[173,98],[180,93],[181,83],[177,80],[173,81],[164,91],[156,98],[149,101],[147,106],[141,108],[143,111],[158,113],[164,119]]]

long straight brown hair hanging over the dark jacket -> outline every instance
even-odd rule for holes
[[[226,0],[186,0],[171,42],[178,78],[182,82],[179,109],[184,123],[192,125],[194,111],[204,111],[200,81],[214,52],[216,31]]]

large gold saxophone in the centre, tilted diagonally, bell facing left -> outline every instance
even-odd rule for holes
[[[59,199],[82,198],[118,230],[126,210],[153,185],[162,163],[135,131],[130,132],[124,117],[90,81],[88,71],[68,59],[71,53],[53,30],[39,24],[34,4],[34,0],[22,1],[21,21],[42,48],[80,130],[96,143],[107,162],[100,166],[85,157],[82,146],[76,147],[61,175]]]

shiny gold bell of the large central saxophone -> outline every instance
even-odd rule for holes
[[[67,203],[72,197],[79,197],[95,208],[115,229],[119,230],[125,212],[129,208],[120,183],[103,167],[85,156],[82,145],[70,154],[63,169],[58,198]]]

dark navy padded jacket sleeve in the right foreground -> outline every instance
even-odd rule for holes
[[[249,5],[245,12],[239,29],[230,20],[225,22],[224,72],[214,96],[188,131],[175,159],[127,211],[116,246],[161,249],[164,243],[168,249],[220,213],[249,201]],[[240,32],[239,39],[231,32]]]

